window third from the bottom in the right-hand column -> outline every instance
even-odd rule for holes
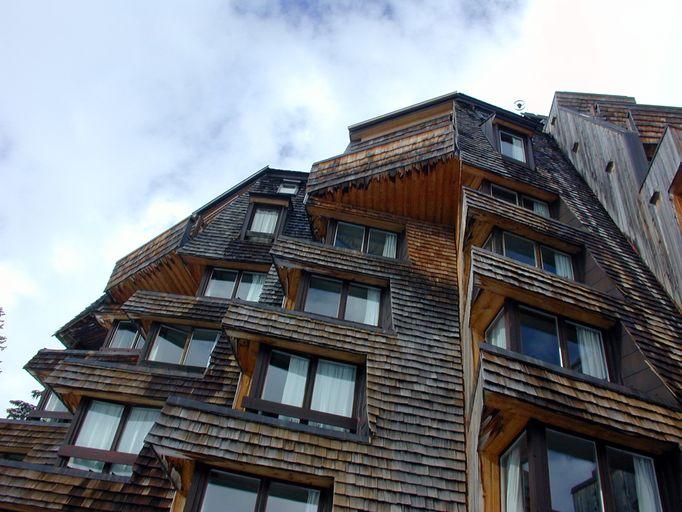
[[[507,231],[495,230],[483,245],[487,249],[526,265],[539,267],[559,277],[575,280],[573,258],[565,252],[538,244]]]

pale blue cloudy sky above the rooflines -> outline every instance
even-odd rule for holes
[[[452,91],[682,106],[680,21],[679,0],[0,1],[0,411],[117,259],[261,167],[308,171]]]

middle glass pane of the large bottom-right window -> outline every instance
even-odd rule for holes
[[[600,511],[601,490],[594,443],[547,430],[552,510]]]

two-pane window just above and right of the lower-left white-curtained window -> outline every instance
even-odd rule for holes
[[[147,359],[156,363],[206,368],[219,335],[212,329],[161,325]]]

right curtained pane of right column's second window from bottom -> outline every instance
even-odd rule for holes
[[[582,325],[566,323],[566,343],[572,370],[607,379],[606,355],[601,332]]]

